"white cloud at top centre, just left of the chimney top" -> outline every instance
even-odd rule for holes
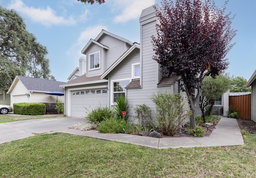
[[[114,18],[114,22],[127,22],[132,19],[138,19],[143,9],[155,4],[155,0],[113,0],[114,10],[120,10],[121,13]]]

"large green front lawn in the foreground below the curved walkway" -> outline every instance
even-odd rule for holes
[[[256,177],[256,136],[243,146],[158,150],[64,133],[0,145],[0,177]]]

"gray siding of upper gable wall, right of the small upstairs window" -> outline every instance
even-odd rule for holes
[[[109,49],[106,50],[104,71],[106,71],[106,69],[108,69],[128,49],[128,47],[130,47],[130,45],[125,42],[106,34],[104,34],[98,42],[109,47]]]

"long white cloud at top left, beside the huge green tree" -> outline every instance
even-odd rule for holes
[[[68,18],[57,16],[56,12],[50,8],[50,6],[47,6],[46,8],[34,8],[26,6],[22,0],[12,0],[8,8],[14,9],[21,14],[28,16],[34,22],[41,23],[45,26],[72,25],[76,23],[72,16],[69,16]]]

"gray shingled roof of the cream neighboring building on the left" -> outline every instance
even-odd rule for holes
[[[64,82],[54,81],[54,80],[46,80],[46,79],[38,79],[34,77],[25,77],[17,75],[18,79],[23,83],[23,85],[29,91],[61,91],[64,92],[64,89],[59,86]]]

